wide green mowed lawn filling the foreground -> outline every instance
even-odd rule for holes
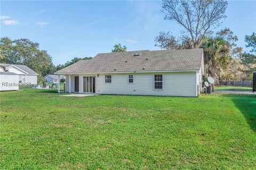
[[[256,95],[0,95],[0,169],[256,167]]]

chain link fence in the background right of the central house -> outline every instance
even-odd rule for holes
[[[251,80],[241,80],[241,81],[216,80],[215,86],[252,87],[252,81]]]

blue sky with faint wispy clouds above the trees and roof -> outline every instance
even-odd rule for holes
[[[63,64],[74,57],[110,52],[115,44],[127,50],[157,50],[159,31],[179,35],[176,22],[163,20],[161,1],[1,1],[1,37],[28,38]],[[238,36],[256,31],[256,1],[229,1],[222,25]]]

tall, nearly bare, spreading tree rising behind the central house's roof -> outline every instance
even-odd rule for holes
[[[163,0],[162,12],[165,20],[176,21],[184,30],[181,39],[185,48],[198,48],[203,38],[219,27],[221,20],[226,18],[225,11],[227,1],[222,0]],[[166,36],[166,39],[168,37]],[[171,37],[173,39],[173,37]],[[161,48],[173,48],[174,45],[167,43],[162,45],[163,39],[156,38]]]

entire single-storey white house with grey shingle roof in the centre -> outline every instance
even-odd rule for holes
[[[55,74],[66,76],[66,91],[196,97],[202,91],[203,49],[102,53]]]

